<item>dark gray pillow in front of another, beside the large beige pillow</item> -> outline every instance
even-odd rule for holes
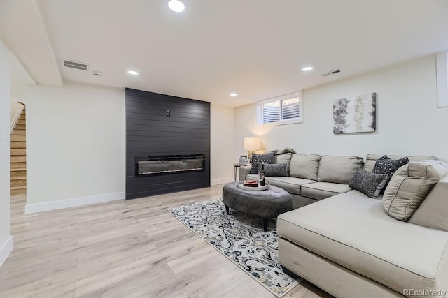
[[[369,198],[377,198],[380,191],[386,186],[387,180],[387,174],[375,174],[360,169],[350,179],[349,186]]]

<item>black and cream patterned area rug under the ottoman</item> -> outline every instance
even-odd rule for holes
[[[283,273],[279,264],[278,236],[273,223],[263,232],[262,218],[230,209],[221,199],[168,208],[188,228],[235,262],[277,297],[300,283]]]

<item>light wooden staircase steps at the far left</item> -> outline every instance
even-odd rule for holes
[[[27,193],[27,137],[25,108],[11,133],[11,195]]]

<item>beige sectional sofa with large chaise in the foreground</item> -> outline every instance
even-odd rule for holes
[[[373,199],[348,183],[361,167],[372,172],[380,155],[368,154],[365,163],[356,156],[290,155],[290,175],[299,177],[267,178],[301,207],[277,218],[285,271],[335,297],[448,297],[446,165],[433,156],[408,156],[384,197]],[[244,170],[240,179],[256,177]],[[408,211],[414,213],[405,221]]]

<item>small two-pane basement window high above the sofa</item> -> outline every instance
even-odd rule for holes
[[[258,124],[293,124],[303,122],[301,92],[262,100],[256,105]]]

